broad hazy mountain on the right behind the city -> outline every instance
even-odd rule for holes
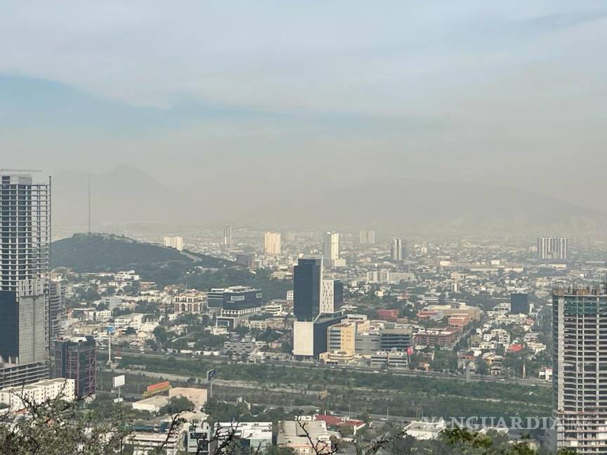
[[[515,182],[516,184],[516,182]],[[391,232],[582,235],[607,227],[603,211],[516,187],[367,180],[351,187],[291,195],[256,210],[266,223],[339,229],[367,226]]]

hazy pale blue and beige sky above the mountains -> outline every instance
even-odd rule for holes
[[[591,205],[607,190],[604,1],[0,7],[0,167],[125,163],[180,190],[415,176]]]

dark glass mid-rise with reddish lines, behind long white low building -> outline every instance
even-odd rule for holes
[[[55,341],[54,377],[76,381],[76,395],[95,395],[97,385],[97,351],[92,336]]]

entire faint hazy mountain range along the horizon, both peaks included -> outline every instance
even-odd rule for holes
[[[198,186],[180,194],[132,166],[93,174],[93,227],[158,221],[257,223],[319,230],[374,227],[403,235],[535,236],[607,231],[605,211],[523,190],[516,187],[516,180],[511,187],[417,178],[370,178],[346,187],[326,181],[308,187],[264,187],[246,178],[245,173],[238,186],[230,183],[221,191],[209,190],[206,181],[194,182],[192,185]],[[53,178],[53,185],[55,222],[86,225],[86,173],[60,173]],[[313,187],[317,189],[311,190]]]

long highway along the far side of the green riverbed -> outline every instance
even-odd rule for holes
[[[99,352],[107,352],[107,350],[99,350]],[[138,355],[141,357],[150,357],[150,358],[161,358],[166,359],[169,357],[167,354],[157,354],[155,352],[141,352],[139,350],[131,350],[131,349],[123,349],[122,352],[129,355]],[[175,357],[178,360],[192,360],[191,355],[182,355],[182,354],[171,354],[170,356]],[[230,362],[227,357],[200,357],[196,356],[196,359],[199,360],[207,360],[209,362],[214,362],[217,364],[225,364]],[[220,360],[221,359],[221,360]],[[349,370],[349,371],[358,371],[360,373],[367,374],[385,374],[386,371],[378,371],[373,367],[363,367],[359,365],[325,365],[320,364],[318,362],[302,362],[296,360],[266,360],[266,364],[275,364],[282,365],[285,367],[293,367],[293,368],[320,368],[320,369],[339,369],[339,370]],[[422,378],[436,378],[436,379],[452,379],[454,381],[466,381],[466,376],[462,374],[455,373],[443,373],[440,371],[418,371],[418,370],[391,370],[391,373],[395,376],[407,376],[414,377],[419,376]],[[551,382],[542,381],[540,379],[522,379],[522,378],[502,378],[500,376],[479,376],[477,374],[470,374],[468,378],[468,382],[494,382],[494,383],[509,383],[509,384],[520,384],[520,385],[529,385],[529,386],[538,386],[538,387],[551,387]]]

